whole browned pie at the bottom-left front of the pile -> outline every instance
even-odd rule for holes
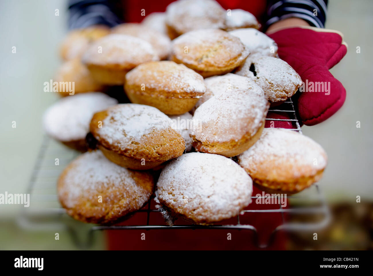
[[[57,181],[59,201],[76,220],[114,223],[146,204],[154,190],[154,179],[148,172],[118,169],[102,155],[97,158],[96,155],[102,154],[97,152],[84,153],[65,168]],[[109,170],[107,177],[79,175],[89,171],[87,168],[93,174],[95,171],[105,174],[100,166]]]

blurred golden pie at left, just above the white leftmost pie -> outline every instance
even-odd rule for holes
[[[86,93],[86,92],[100,92],[104,91],[105,87],[98,84],[90,71],[84,66],[79,58],[71,59],[61,65],[57,71],[53,81],[57,82],[73,82],[74,83],[74,94]],[[69,91],[58,90],[61,96],[69,96]]]

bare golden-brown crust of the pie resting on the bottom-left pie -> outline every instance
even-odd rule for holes
[[[109,113],[110,111],[106,110],[94,114],[90,124],[91,133],[98,140],[98,143],[107,150],[134,159],[136,162],[144,161],[145,165],[147,165],[147,162],[159,165],[162,162],[182,155],[184,152],[184,138],[179,131],[174,130],[171,126],[153,130],[148,134],[131,138],[125,142],[111,143],[105,135],[101,134],[101,128],[99,127],[100,124],[102,124],[102,128],[110,127],[104,124],[105,119],[109,117]],[[128,116],[131,117],[130,114]],[[126,118],[122,118],[122,120],[126,120]],[[114,159],[116,158],[112,158],[112,160]]]

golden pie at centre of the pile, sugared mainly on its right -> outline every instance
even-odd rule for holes
[[[137,66],[126,75],[124,87],[132,103],[154,106],[167,115],[188,112],[206,91],[201,75],[172,61]]]

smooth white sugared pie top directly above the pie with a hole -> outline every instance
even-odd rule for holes
[[[258,54],[262,56],[277,57],[278,47],[276,42],[263,32],[254,28],[244,28],[233,30],[229,33],[238,37],[242,43],[245,44],[250,51],[250,56]],[[273,49],[272,53],[271,49]]]

